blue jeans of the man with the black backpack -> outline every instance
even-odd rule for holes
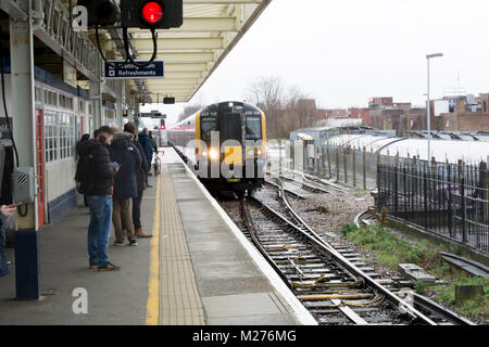
[[[87,195],[90,208],[88,226],[88,255],[92,265],[103,266],[109,262],[106,249],[111,235],[112,196]]]

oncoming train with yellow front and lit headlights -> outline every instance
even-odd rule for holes
[[[262,187],[266,119],[247,103],[209,105],[168,129],[168,144],[211,191],[238,195]]]

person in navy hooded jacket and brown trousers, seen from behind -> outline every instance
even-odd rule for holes
[[[114,182],[114,213],[112,222],[114,224],[114,245],[124,245],[124,229],[130,246],[137,246],[134,232],[133,218],[130,216],[130,201],[138,196],[137,172],[141,168],[141,155],[133,144],[134,136],[129,132],[116,132],[114,141],[109,151],[111,159],[121,165]]]

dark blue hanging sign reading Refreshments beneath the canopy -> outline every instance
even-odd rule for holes
[[[143,62],[137,62],[143,63]],[[126,62],[105,62],[105,78],[164,78],[163,61],[155,61],[145,67],[138,67]]]

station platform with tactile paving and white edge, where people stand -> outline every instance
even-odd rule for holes
[[[41,231],[41,300],[14,300],[14,274],[0,279],[0,324],[314,324],[172,149],[150,182],[142,223],[155,236],[110,247],[121,272],[88,269],[88,210],[77,208]],[[76,287],[87,314],[72,310]]]

